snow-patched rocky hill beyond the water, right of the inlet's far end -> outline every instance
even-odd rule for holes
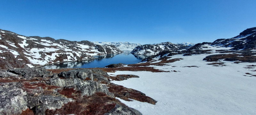
[[[132,50],[132,54],[138,55],[156,55],[162,51],[176,51],[180,49],[187,48],[188,46],[183,44],[174,44],[171,42],[163,42],[157,44],[145,44],[137,46]]]

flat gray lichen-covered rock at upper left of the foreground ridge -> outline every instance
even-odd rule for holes
[[[44,68],[17,68],[10,69],[8,72],[21,75],[24,78],[48,77],[51,74],[50,71],[46,71]]]

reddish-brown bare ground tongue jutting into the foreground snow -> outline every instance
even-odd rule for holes
[[[109,92],[114,93],[115,97],[119,97],[125,101],[132,101],[130,99],[134,99],[140,102],[147,102],[149,104],[156,104],[157,102],[156,100],[146,96],[144,93],[132,88],[125,88],[124,86],[113,83],[107,86],[109,87]]]

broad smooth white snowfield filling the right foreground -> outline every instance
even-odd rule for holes
[[[167,72],[117,71],[108,73],[112,76],[138,75],[139,78],[112,82],[139,90],[155,99],[157,103],[153,105],[136,100],[118,99],[144,115],[255,114],[255,49],[230,52],[230,48],[212,47],[207,43],[201,46],[203,47],[201,50],[207,50],[209,53],[191,56],[167,53],[162,57],[156,56],[149,62],[136,64],[141,67],[143,64],[146,65],[145,63],[150,63],[152,65],[144,67],[153,67]],[[212,57],[216,55],[224,57]],[[206,57],[212,58],[207,60]],[[217,60],[212,60],[216,58]],[[240,61],[232,59],[245,62],[236,63]],[[254,59],[253,63],[246,62],[250,59]],[[159,62],[164,63],[154,65]],[[134,65],[131,68],[134,68]]]

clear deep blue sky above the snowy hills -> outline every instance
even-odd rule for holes
[[[256,27],[256,0],[1,0],[0,28],[71,41],[213,42]]]

